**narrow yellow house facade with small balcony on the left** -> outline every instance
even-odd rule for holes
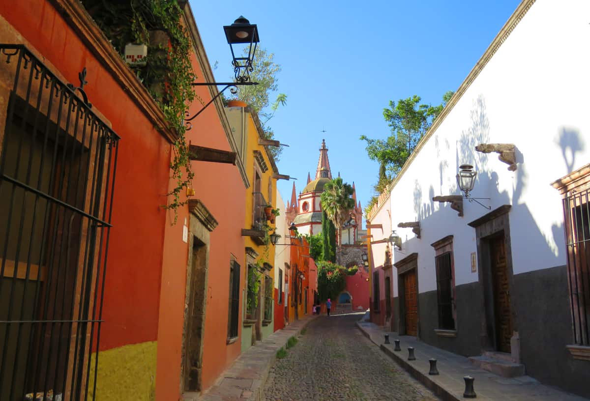
[[[226,112],[234,132],[239,157],[250,182],[246,190],[244,303],[242,304],[242,351],[274,331],[274,245],[278,169],[258,120],[258,115],[241,102],[230,102]],[[235,105],[235,106],[234,106]]]

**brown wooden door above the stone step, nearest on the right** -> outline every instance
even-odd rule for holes
[[[510,352],[512,314],[510,311],[510,286],[504,236],[490,240],[491,278],[494,285],[494,318],[496,320],[496,348]]]

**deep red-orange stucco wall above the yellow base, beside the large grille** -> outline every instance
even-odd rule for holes
[[[22,35],[14,42],[38,51],[66,80],[78,84],[86,67],[93,109],[121,137],[100,350],[154,341],[165,223],[158,205],[168,186],[169,143],[50,2],[0,2],[0,14]]]

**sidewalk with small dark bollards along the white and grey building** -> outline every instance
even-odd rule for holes
[[[464,376],[475,378],[473,387],[478,400],[587,401],[586,398],[544,386],[530,376],[508,379],[487,370],[478,369],[466,357],[429,346],[417,340],[416,337],[398,336],[397,333],[385,331],[376,324],[365,321],[364,318],[357,323],[357,326],[383,352],[445,401],[464,400]],[[384,334],[389,334],[391,344],[383,344]],[[401,351],[394,351],[396,339],[401,340]],[[408,347],[414,347],[416,360],[408,361]],[[437,376],[428,374],[430,358],[437,360],[437,369],[440,372]]]

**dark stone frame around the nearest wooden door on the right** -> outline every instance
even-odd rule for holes
[[[477,243],[477,275],[483,297],[481,297],[481,350],[496,351],[498,339],[496,338],[496,318],[494,311],[494,288],[491,278],[490,239],[504,236],[504,251],[506,252],[506,270],[508,286],[512,292],[514,289],[514,272],[512,266],[512,247],[510,246],[510,221],[509,212],[512,206],[502,205],[484,216],[468,223],[476,229]],[[514,298],[510,296],[510,319],[512,331],[518,332],[516,320],[516,306]],[[514,350],[513,350],[514,351]]]

